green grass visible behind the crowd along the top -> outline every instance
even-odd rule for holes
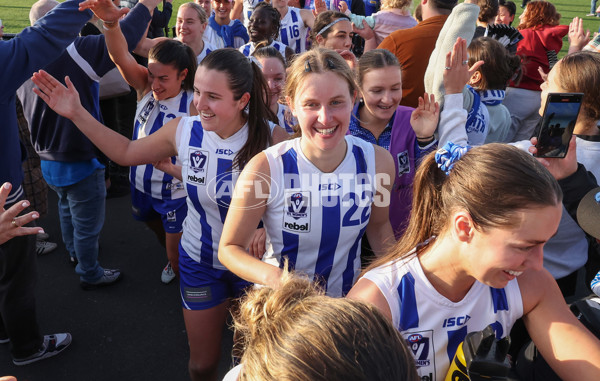
[[[0,19],[2,19],[6,33],[18,33],[23,28],[29,26],[29,9],[36,0],[0,0]],[[517,4],[517,16],[515,18],[514,25],[518,24],[518,17],[522,12],[520,7],[521,0],[513,0]],[[177,8],[184,0],[174,0],[173,9],[174,14],[171,17],[170,26],[175,25],[175,14]],[[18,3],[18,5],[17,5]],[[417,4],[418,0],[413,0],[413,3]],[[600,18],[586,17],[590,11],[590,0],[558,0],[551,1],[560,14],[562,15],[561,24],[569,25],[573,17],[583,17],[583,25],[586,29],[589,29],[592,33],[597,32],[600,27]],[[563,43],[563,49],[561,50],[559,57],[566,54],[568,49],[568,39],[565,37]]]

